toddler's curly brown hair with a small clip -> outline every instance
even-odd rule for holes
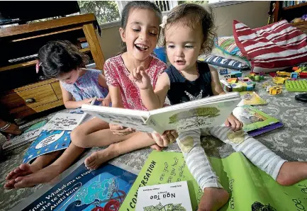
[[[199,4],[180,4],[167,14],[167,24],[162,29],[163,45],[165,45],[165,29],[175,23],[188,25],[192,29],[201,27],[203,31],[203,45],[201,53],[210,53],[216,38],[213,11],[211,7],[208,10]]]

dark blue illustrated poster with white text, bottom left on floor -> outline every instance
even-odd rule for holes
[[[136,177],[111,164],[94,171],[82,164],[22,210],[119,210]]]

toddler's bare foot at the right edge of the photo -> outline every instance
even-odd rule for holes
[[[285,162],[279,170],[277,183],[291,186],[307,178],[307,162]]]

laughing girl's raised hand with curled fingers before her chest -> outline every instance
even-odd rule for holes
[[[142,66],[134,68],[133,71],[130,72],[129,79],[135,82],[138,89],[149,89],[151,86],[150,77]]]

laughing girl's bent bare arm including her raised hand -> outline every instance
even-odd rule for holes
[[[140,89],[140,97],[148,110],[162,108],[170,84],[169,76],[165,72],[157,79],[155,91],[152,89],[150,77],[143,67],[133,69],[133,72],[130,73],[130,79],[135,81]]]

